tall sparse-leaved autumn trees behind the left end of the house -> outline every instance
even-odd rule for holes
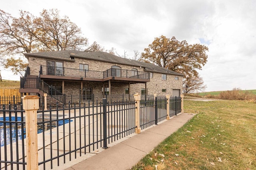
[[[19,18],[0,10],[0,59],[21,53],[61,50],[91,52],[103,51],[104,47],[96,42],[88,47],[88,39],[82,36],[81,29],[67,16],[60,17],[56,9],[42,10],[39,17],[21,10]],[[26,68],[23,67],[26,62],[14,60],[10,58],[6,68],[12,67],[16,74],[20,70],[14,69],[15,62],[22,64],[19,69]]]

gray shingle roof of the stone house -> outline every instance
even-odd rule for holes
[[[110,53],[102,52],[102,51],[86,53],[86,52],[77,51],[77,50],[66,50],[66,51],[50,51],[50,52],[39,52],[39,53],[25,53],[24,55],[26,57],[33,56],[33,57],[52,58],[52,59],[60,59],[60,60],[61,59],[72,60],[71,58],[77,57],[82,59],[104,61],[109,63],[126,64],[130,66],[138,66],[138,67],[141,66],[144,68],[144,71],[148,71],[148,72],[158,72],[158,73],[183,76],[180,73],[162,68],[160,66],[157,66],[151,63],[144,63],[136,60],[124,59],[124,58],[112,55]]]

